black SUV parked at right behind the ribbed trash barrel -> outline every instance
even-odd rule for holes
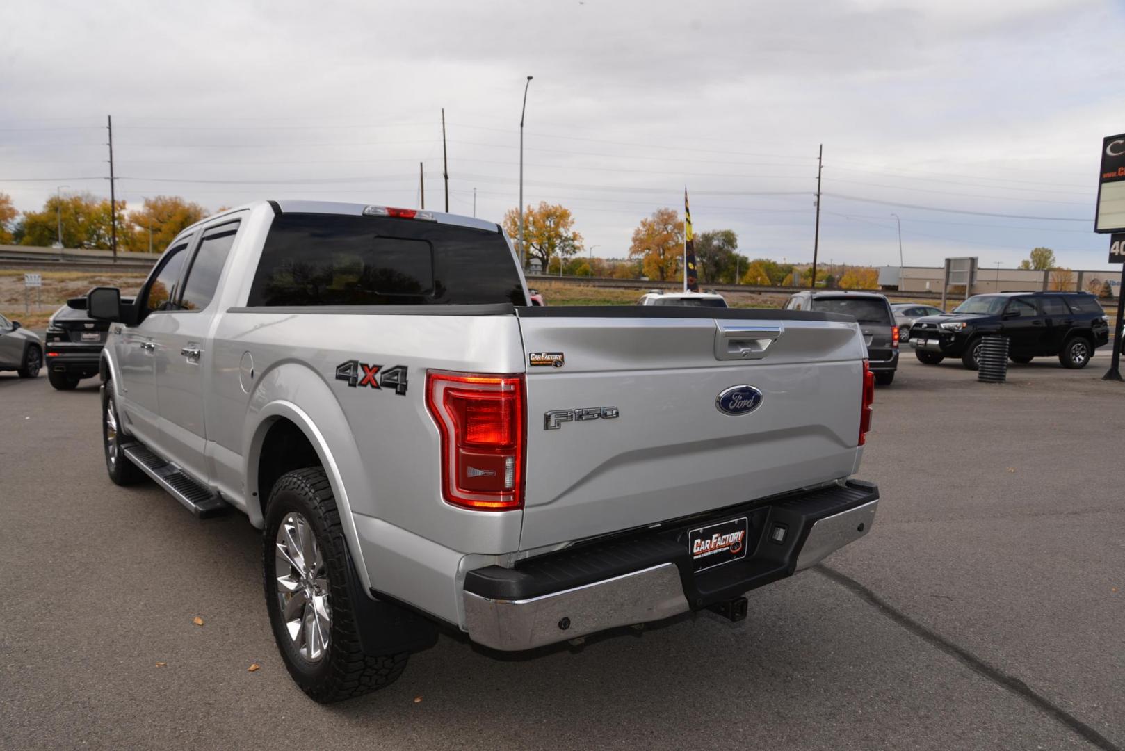
[[[910,329],[910,346],[926,365],[960,357],[970,370],[980,364],[981,337],[1008,337],[1014,363],[1058,355],[1063,367],[1081,368],[1109,341],[1109,323],[1097,298],[1084,292],[1002,292],[973,295],[952,313],[927,315]]]

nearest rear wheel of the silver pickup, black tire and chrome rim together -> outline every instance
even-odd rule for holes
[[[398,679],[408,653],[372,658],[360,646],[340,512],[324,470],[296,470],[274,483],[262,551],[273,638],[305,694],[327,704]]]

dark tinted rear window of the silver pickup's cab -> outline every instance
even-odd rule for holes
[[[276,305],[526,305],[500,232],[336,214],[281,214],[246,301]]]

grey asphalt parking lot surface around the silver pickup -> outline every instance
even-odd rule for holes
[[[519,658],[442,636],[331,707],[277,654],[245,519],[112,485],[96,382],[0,374],[0,748],[1125,749],[1107,365],[984,385],[904,351],[860,473],[872,533],[753,592],[745,622]]]

